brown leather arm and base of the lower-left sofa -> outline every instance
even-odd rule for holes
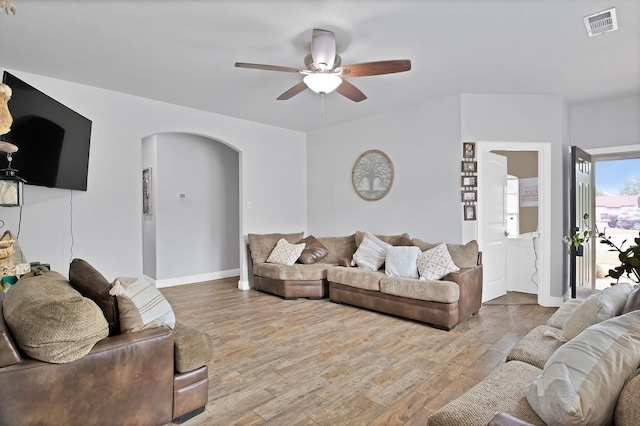
[[[170,328],[107,337],[80,359],[51,364],[15,345],[2,298],[0,424],[162,425],[204,411],[207,366],[176,372]]]

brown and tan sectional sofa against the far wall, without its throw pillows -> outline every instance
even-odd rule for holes
[[[407,252],[414,256],[441,246],[412,239],[406,233],[376,237],[384,242],[385,247],[412,247]],[[283,238],[289,244],[304,242],[310,253],[307,257],[311,257],[312,262],[268,262],[270,254]],[[361,231],[348,236],[317,239],[312,236],[303,238],[302,232],[249,234],[253,287],[285,299],[329,297],[335,303],[409,318],[445,330],[453,329],[480,310],[482,256],[476,241],[464,245],[446,244],[457,270],[441,279],[420,279],[417,271],[411,277],[390,272],[389,258],[379,268],[367,269],[354,262],[366,238],[367,233]],[[318,246],[326,253],[322,253]],[[307,257],[305,253],[300,256],[304,262],[308,261]]]

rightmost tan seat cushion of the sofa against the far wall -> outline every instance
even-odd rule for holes
[[[460,299],[460,287],[451,281],[385,276],[380,281],[380,291],[394,296],[439,303],[455,303]]]

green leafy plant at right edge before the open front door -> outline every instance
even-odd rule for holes
[[[579,250],[583,244],[589,242],[592,238],[597,238],[600,240],[600,244],[606,244],[609,246],[609,251],[618,252],[620,265],[613,269],[609,269],[607,277],[615,278],[617,281],[620,277],[626,276],[631,281],[640,283],[640,232],[638,233],[639,238],[633,239],[636,245],[629,246],[625,249],[624,246],[627,243],[627,240],[624,240],[618,246],[611,240],[611,237],[605,234],[606,228],[602,232],[598,230],[597,226],[591,228],[589,226],[588,219],[589,215],[585,213],[582,218],[583,230],[576,231],[570,237],[565,236],[562,240],[566,244],[574,247],[575,250]]]

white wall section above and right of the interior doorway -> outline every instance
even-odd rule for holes
[[[565,106],[557,96],[461,95],[462,139],[551,144],[551,182],[562,182]],[[552,185],[550,276],[552,297],[563,290],[563,186]]]

